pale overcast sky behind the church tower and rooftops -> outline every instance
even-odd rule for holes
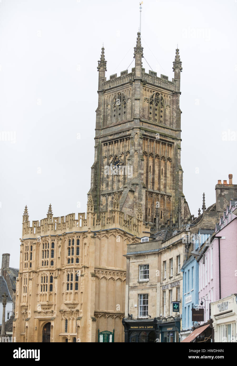
[[[183,191],[195,216],[203,192],[206,207],[215,202],[218,179],[237,183],[236,13],[237,0],[142,5],[146,72],[171,80],[178,44]],[[139,16],[134,0],[0,1],[0,248],[10,266],[19,267],[26,204],[31,223],[49,203],[54,216],[86,211],[97,60],[104,42],[107,79],[127,69]]]

